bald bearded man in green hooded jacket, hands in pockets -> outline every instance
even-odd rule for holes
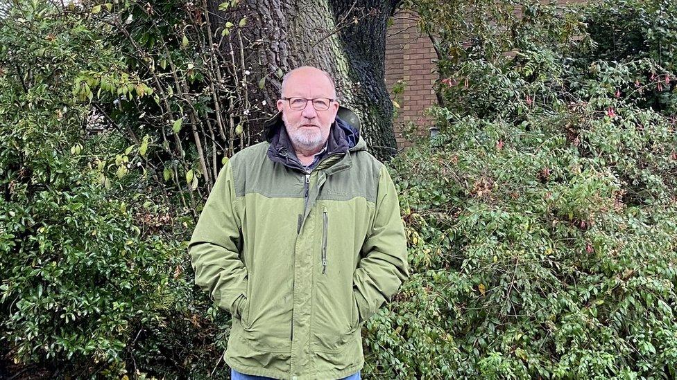
[[[216,179],[195,280],[233,316],[234,379],[359,379],[361,326],[409,275],[395,186],[324,71],[286,74],[277,110]]]

